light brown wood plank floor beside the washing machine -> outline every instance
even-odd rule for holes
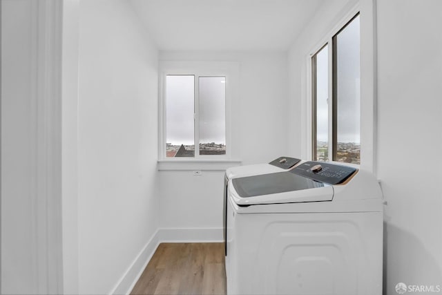
[[[131,294],[226,294],[224,244],[160,244]]]

